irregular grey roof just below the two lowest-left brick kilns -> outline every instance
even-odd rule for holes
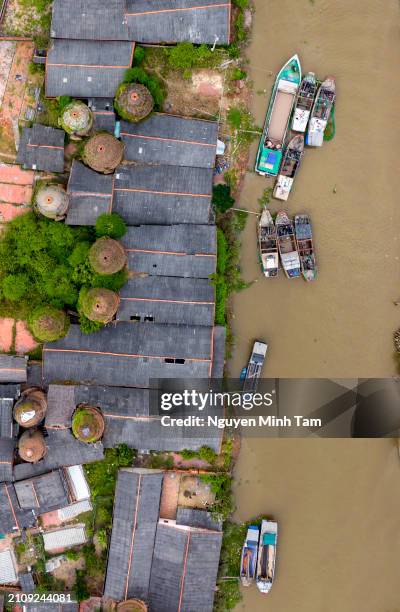
[[[14,480],[23,480],[51,470],[103,459],[103,445],[80,442],[68,430],[48,429],[45,438],[47,453],[38,463],[18,463],[14,466]]]

